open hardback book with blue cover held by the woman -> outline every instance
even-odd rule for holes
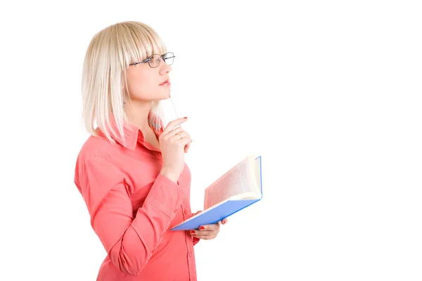
[[[172,230],[192,230],[214,224],[262,199],[261,156],[248,155],[205,188],[204,210]]]

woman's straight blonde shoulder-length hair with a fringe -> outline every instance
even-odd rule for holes
[[[111,134],[124,142],[123,122],[127,120],[124,101],[129,100],[126,67],[140,62],[153,53],[165,53],[167,47],[150,26],[142,22],[118,22],[101,30],[91,39],[82,70],[82,119],[85,129],[98,136],[96,128],[115,143]],[[161,115],[159,101],[154,101],[151,112]],[[111,114],[113,113],[113,114]]]

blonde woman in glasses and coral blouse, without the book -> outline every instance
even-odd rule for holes
[[[193,216],[184,162],[191,137],[179,126],[187,118],[163,128],[159,114],[173,60],[141,22],[111,25],[89,44],[82,93],[91,136],[75,184],[107,252],[97,280],[196,280],[193,245],[219,232],[220,223],[170,230]]]

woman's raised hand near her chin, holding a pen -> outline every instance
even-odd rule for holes
[[[177,127],[186,120],[187,118],[184,117],[169,122],[158,138],[162,154],[160,174],[175,183],[179,180],[179,176],[184,169],[184,153],[191,143],[191,136],[181,126]]]

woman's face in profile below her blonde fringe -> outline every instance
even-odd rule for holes
[[[151,65],[153,65],[151,63]],[[172,67],[161,59],[158,67],[140,63],[127,67],[127,87],[132,101],[151,102],[170,98],[170,71]],[[167,81],[167,83],[164,83]]]

